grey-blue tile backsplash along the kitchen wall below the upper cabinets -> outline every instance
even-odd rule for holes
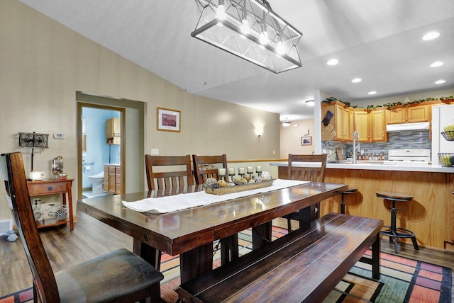
[[[345,155],[353,150],[351,142],[322,141],[322,149],[326,149],[328,161],[337,160],[336,148],[343,149]],[[431,149],[432,142],[429,139],[428,131],[405,130],[401,132],[389,132],[388,142],[360,143],[360,150],[364,154],[384,154],[388,159],[389,149]],[[331,152],[330,152],[331,151]],[[347,157],[347,156],[345,156]]]

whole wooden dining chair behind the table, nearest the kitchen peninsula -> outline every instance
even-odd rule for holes
[[[287,179],[312,182],[325,181],[326,158],[326,154],[289,154]],[[304,164],[307,165],[304,166]],[[301,220],[304,222],[313,221],[319,217],[319,210],[320,202],[311,205],[309,214],[306,214],[305,218],[301,217],[299,211],[285,215],[288,231],[292,231],[292,220],[298,220],[300,224]]]

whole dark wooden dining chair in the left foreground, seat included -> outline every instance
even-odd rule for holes
[[[33,274],[35,302],[160,302],[164,276],[124,248],[54,273],[33,217],[21,153],[0,156],[0,176]]]

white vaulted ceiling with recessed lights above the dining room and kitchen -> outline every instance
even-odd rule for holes
[[[354,104],[454,87],[453,0],[268,0],[303,33],[303,66],[281,74],[192,38],[194,0],[20,1],[189,93],[281,120],[310,118],[316,90]]]

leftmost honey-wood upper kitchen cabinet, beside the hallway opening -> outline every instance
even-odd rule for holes
[[[345,107],[345,104],[333,101],[323,103],[321,108],[322,117],[328,110],[333,113],[329,124],[322,125],[322,139],[342,142],[350,142],[353,139],[353,109]]]

